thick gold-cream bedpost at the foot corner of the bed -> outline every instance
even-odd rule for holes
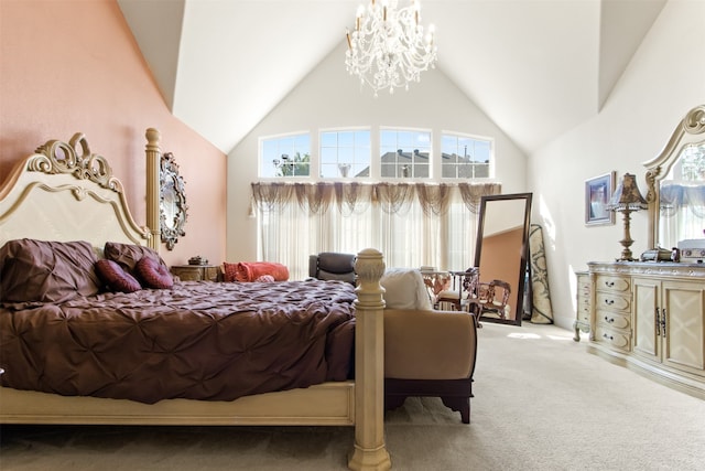
[[[355,471],[389,470],[384,445],[384,274],[382,254],[366,248],[357,255],[355,302],[355,449],[348,468]]]

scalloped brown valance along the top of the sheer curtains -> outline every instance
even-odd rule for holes
[[[252,183],[252,201],[258,208],[281,210],[295,202],[311,214],[324,214],[332,205],[346,214],[365,211],[370,204],[397,214],[417,201],[424,214],[444,215],[456,195],[471,214],[477,214],[481,196],[500,193],[500,183]]]

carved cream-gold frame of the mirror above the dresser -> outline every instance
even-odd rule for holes
[[[649,203],[649,248],[655,248],[659,240],[661,181],[670,173],[686,146],[705,142],[705,105],[691,109],[679,122],[661,153],[646,162],[647,202]],[[664,247],[671,248],[671,247]]]

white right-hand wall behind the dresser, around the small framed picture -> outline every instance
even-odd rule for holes
[[[585,226],[585,180],[612,170],[618,179],[636,173],[646,195],[643,163],[691,108],[705,104],[704,31],[705,1],[669,1],[604,108],[530,156],[533,221],[544,226],[558,325],[570,328],[575,319],[574,271],[590,260],[612,260],[622,249],[621,214],[614,226]],[[649,248],[646,212],[632,214],[631,237],[636,256]]]

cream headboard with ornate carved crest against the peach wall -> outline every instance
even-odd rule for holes
[[[159,153],[159,132],[153,137],[150,144]],[[148,210],[148,217],[150,213]],[[156,233],[155,238],[154,231],[134,222],[122,183],[104,157],[90,152],[83,133],[74,135],[68,143],[50,140],[39,147],[0,188],[0,246],[28,237],[87,240],[98,249],[107,240],[154,248],[159,228]]]

